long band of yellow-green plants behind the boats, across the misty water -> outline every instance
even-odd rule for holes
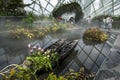
[[[20,26],[19,26],[20,27]],[[42,39],[49,33],[56,33],[65,30],[67,25],[53,23],[51,26],[43,28],[15,28],[10,31],[9,37],[12,39]]]

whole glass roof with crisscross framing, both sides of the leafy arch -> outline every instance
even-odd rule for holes
[[[23,0],[25,4],[31,4],[25,7],[26,11],[33,11],[38,15],[49,15],[54,8],[61,4],[78,2],[84,12],[84,17],[89,15],[97,16],[101,14],[119,15],[119,0]]]

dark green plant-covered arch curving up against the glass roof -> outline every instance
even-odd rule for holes
[[[60,17],[64,13],[75,12],[75,22],[78,22],[83,18],[83,12],[80,5],[77,2],[72,2],[69,4],[62,4],[57,9],[52,11],[52,14],[55,18]]]

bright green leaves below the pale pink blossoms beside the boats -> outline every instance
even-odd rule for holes
[[[31,68],[34,73],[37,71],[49,72],[52,71],[52,63],[58,62],[58,54],[53,50],[47,50],[46,52],[37,51],[33,55],[26,58],[31,62]]]

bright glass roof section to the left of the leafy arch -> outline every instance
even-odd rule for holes
[[[75,2],[76,0],[23,0],[25,4],[31,4],[25,7],[26,11],[33,11],[38,15],[49,15],[52,10],[61,4]]]

